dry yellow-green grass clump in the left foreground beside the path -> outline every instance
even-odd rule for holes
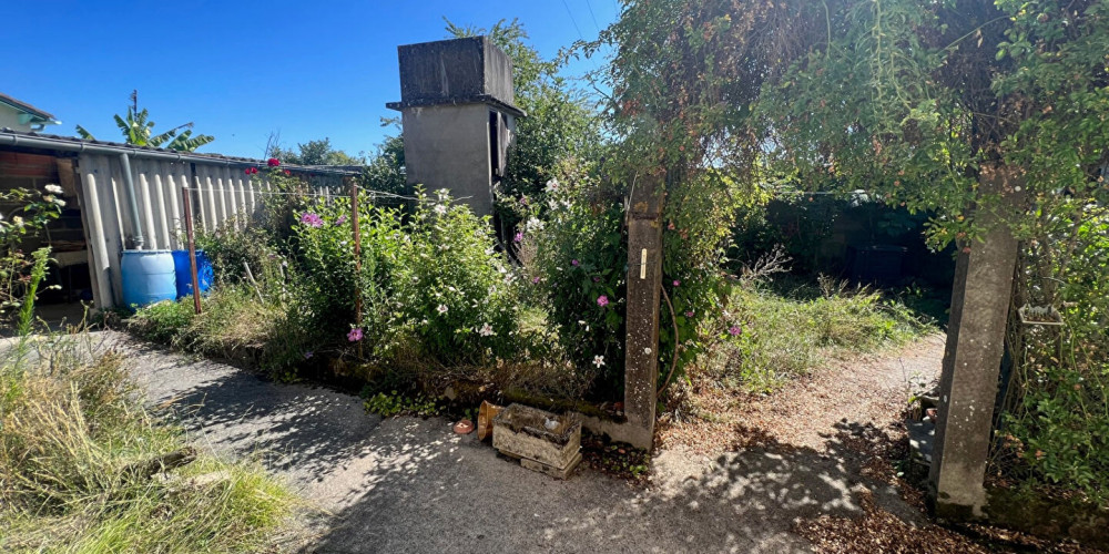
[[[293,494],[253,462],[201,453],[150,478],[135,468],[186,445],[147,412],[122,355],[48,337],[37,361],[0,352],[0,548],[4,552],[258,552]],[[216,476],[206,483],[202,475]],[[197,479],[194,484],[194,479]]]

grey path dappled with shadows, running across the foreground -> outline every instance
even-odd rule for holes
[[[266,382],[104,336],[129,352],[151,402],[181,414],[197,442],[231,455],[267,456],[318,509],[308,529],[285,544],[289,550],[811,552],[791,531],[794,523],[859,514],[864,485],[883,505],[904,507],[896,490],[865,475],[849,439],[798,434],[806,438],[796,444],[712,456],[668,447],[655,454],[647,485],[590,470],[562,482],[498,458],[474,434],[454,434],[442,419],[383,421],[349,394]],[[913,363],[938,368],[935,356],[928,347]],[[896,359],[874,368],[874,379],[859,372],[858,382],[830,392],[831,406],[868,382],[896,383],[894,369],[902,375]]]

